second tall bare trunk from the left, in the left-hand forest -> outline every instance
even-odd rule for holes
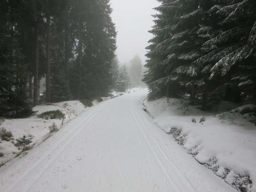
[[[50,15],[47,14],[47,28],[46,28],[46,90],[45,90],[45,101],[49,103],[51,101],[50,96]]]

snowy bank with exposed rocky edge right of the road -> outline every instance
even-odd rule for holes
[[[184,114],[178,109],[184,105],[179,99],[161,98],[144,101],[144,105],[154,122],[171,133],[200,164],[238,190],[256,191],[256,126],[249,122],[255,120],[255,113],[240,114],[243,109],[256,106],[237,107],[222,101],[212,109],[214,113],[190,106]],[[205,121],[200,122],[201,118]]]

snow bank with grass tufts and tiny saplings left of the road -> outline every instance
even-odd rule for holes
[[[33,143],[31,143],[31,145],[39,145],[44,136],[49,133],[48,127],[52,123],[55,123],[58,129],[60,129],[62,126],[62,119],[42,119],[37,117],[37,115],[43,112],[58,109],[65,114],[65,119],[63,119],[63,124],[65,124],[83,112],[85,107],[79,101],[65,101],[53,103],[52,105],[38,105],[33,108],[33,111],[36,113],[29,118],[5,119],[0,127],[4,127],[7,131],[11,131],[14,140],[0,140],[0,152],[4,154],[4,156],[0,157],[0,164],[13,159],[20,152],[14,144],[16,143],[15,139],[19,139],[23,134],[26,137],[33,138]]]

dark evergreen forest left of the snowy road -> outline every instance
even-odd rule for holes
[[[1,1],[0,116],[107,95],[116,51],[111,12],[109,0]]]

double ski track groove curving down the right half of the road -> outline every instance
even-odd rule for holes
[[[143,125],[144,129],[146,129],[148,135],[151,137],[151,139],[153,139],[153,141],[154,141],[156,147],[160,150],[161,153],[163,153],[163,152],[162,152],[163,149],[159,146],[159,144],[156,142],[156,140],[155,140],[155,139],[153,138],[153,136],[150,134],[150,132],[148,131],[148,129],[146,128],[146,126],[143,124],[143,122],[141,121],[140,117],[138,116],[137,112],[135,111],[135,109],[134,109],[134,107],[133,107],[133,105],[132,105],[132,101],[133,101],[133,100],[134,100],[134,99],[130,100],[129,106],[130,106],[130,109],[131,109],[131,111],[132,111],[132,115],[133,115],[133,117],[134,117],[134,119],[135,119],[135,121],[136,121],[136,123],[137,123],[139,129],[140,129],[140,132],[142,133],[142,135],[143,135],[143,137],[144,137],[146,143],[148,144],[148,147],[150,148],[150,150],[151,150],[153,156],[155,157],[155,159],[156,159],[156,161],[157,161],[159,167],[162,169],[162,171],[164,172],[165,176],[166,176],[167,179],[169,180],[169,183],[171,184],[173,191],[175,191],[175,192],[180,191],[180,189],[178,188],[178,186],[176,185],[176,183],[173,181],[171,175],[170,175],[169,172],[167,171],[166,166],[164,165],[164,162],[158,157],[158,155],[157,155],[157,153],[156,153],[156,150],[153,148],[153,146],[152,146],[152,144],[150,143],[150,141],[148,140],[148,138],[147,138],[145,132],[142,130],[142,128],[141,128],[141,126],[140,126],[140,124],[139,124],[139,122],[138,122],[137,119],[140,120],[140,123]],[[136,118],[136,117],[137,117],[137,118]],[[161,150],[162,150],[162,151],[161,151]],[[164,153],[164,154],[165,154],[165,153]],[[166,154],[165,154],[165,156],[166,156]],[[166,158],[166,157],[165,157],[165,158]],[[169,158],[168,158],[168,159],[169,159]],[[170,162],[170,159],[169,159],[169,162]],[[172,165],[172,164],[173,164],[173,163],[171,162],[171,165]],[[178,169],[176,166],[175,166],[175,168]],[[175,170],[175,171],[176,171],[176,170]],[[179,176],[181,176],[181,173],[179,174]],[[184,178],[185,180],[187,180],[184,176],[183,176],[183,177],[180,177],[180,178]],[[183,183],[184,183],[184,182],[183,182]],[[190,184],[190,183],[189,183],[189,184]],[[187,191],[190,191],[189,189],[192,187],[192,188],[193,188],[193,191],[196,192],[195,189],[194,189],[194,187],[193,187],[191,184],[190,184],[189,187],[188,187],[187,183],[184,183],[184,185],[186,186]],[[181,192],[181,191],[180,191],[180,192]]]

